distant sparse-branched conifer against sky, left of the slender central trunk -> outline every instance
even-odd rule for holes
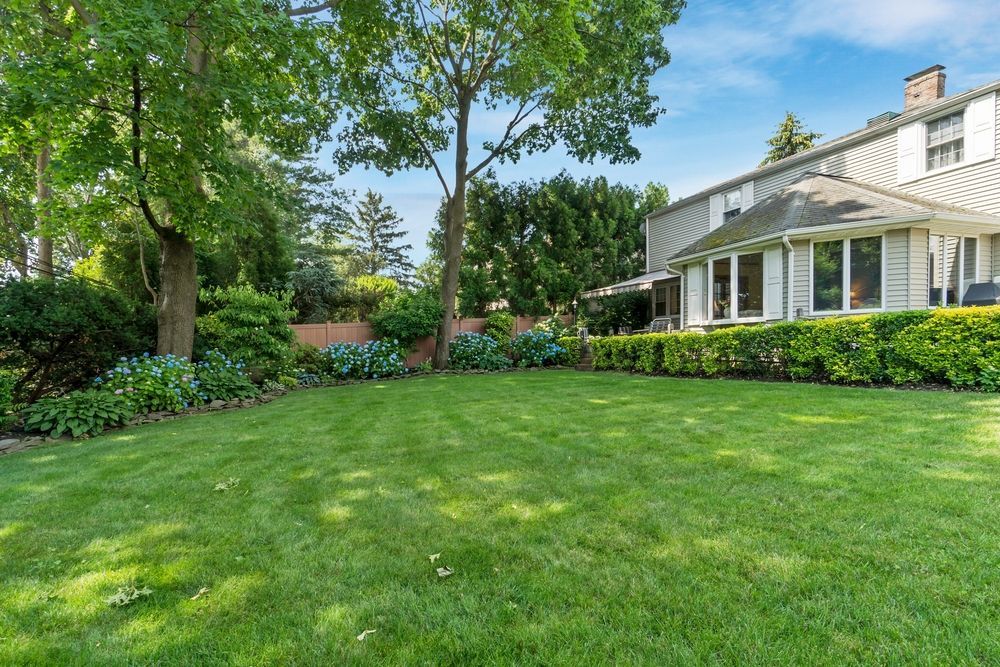
[[[399,242],[406,236],[399,229],[402,222],[396,211],[383,203],[382,195],[371,190],[365,194],[344,231],[351,245],[349,264],[353,276],[385,275],[401,285],[413,281],[415,267],[407,255],[413,246]]]

